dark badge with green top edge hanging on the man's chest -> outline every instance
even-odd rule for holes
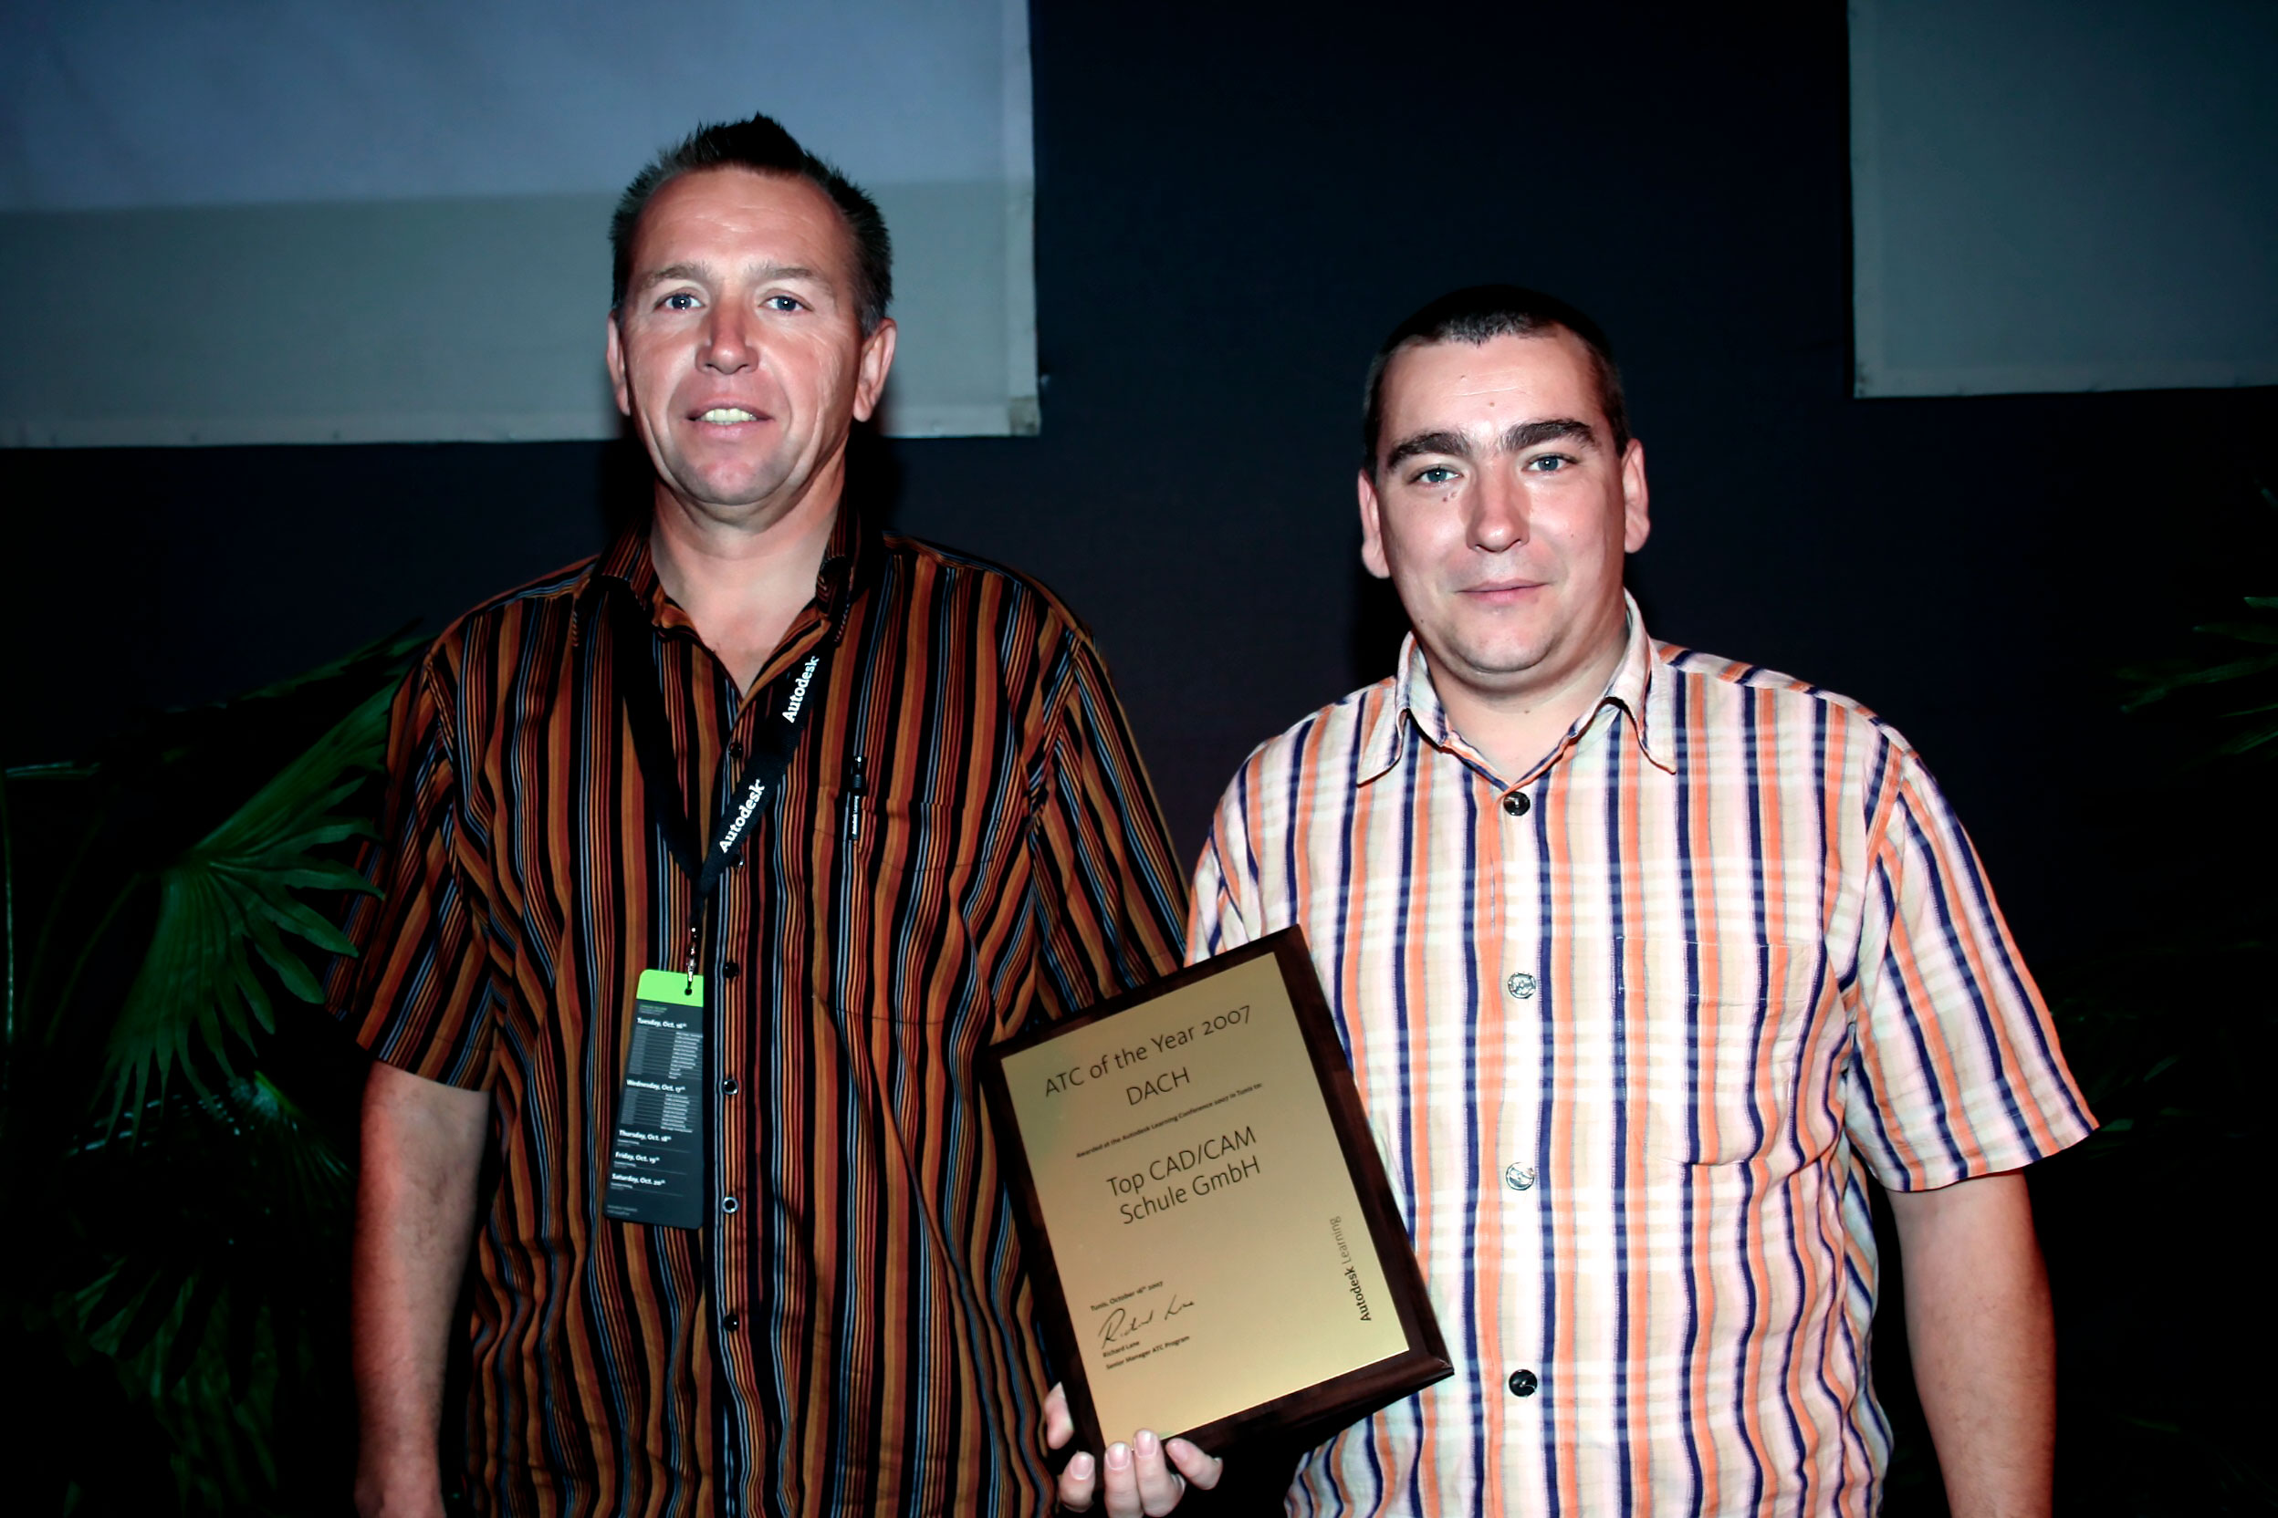
[[[601,1211],[704,1227],[704,976],[642,970]]]

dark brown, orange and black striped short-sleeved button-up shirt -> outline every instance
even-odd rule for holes
[[[1100,655],[1034,583],[843,519],[759,676],[836,642],[818,710],[697,913],[613,690],[626,592],[711,838],[768,712],[626,537],[469,612],[405,683],[385,897],[335,974],[378,1058],[494,1102],[474,1495],[1034,1513],[1043,1370],[975,1056],[1175,967],[1185,917]],[[686,963],[690,922],[718,1197],[702,1231],[613,1222],[636,981]]]

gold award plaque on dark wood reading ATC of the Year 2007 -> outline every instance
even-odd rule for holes
[[[1451,1366],[1305,938],[989,1049],[1077,1447],[1326,1438]]]

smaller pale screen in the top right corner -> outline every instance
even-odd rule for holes
[[[2278,5],[1850,0],[1859,396],[2278,385]]]

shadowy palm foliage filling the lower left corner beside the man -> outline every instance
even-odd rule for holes
[[[410,646],[0,781],[16,1511],[339,1502],[358,1067],[314,1006]]]

